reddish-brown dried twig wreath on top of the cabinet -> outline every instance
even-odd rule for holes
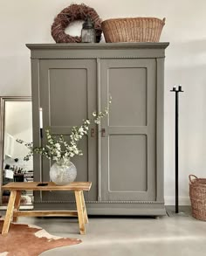
[[[96,42],[100,42],[101,38],[101,19],[96,10],[86,4],[73,3],[58,13],[52,24],[52,38],[56,43],[80,43],[81,37],[72,37],[65,33],[65,28],[76,20],[85,20],[90,17],[93,21],[96,31]]]

